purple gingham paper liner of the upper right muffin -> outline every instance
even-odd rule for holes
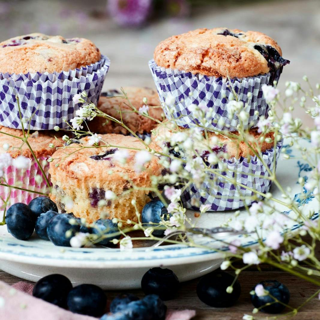
[[[234,100],[232,88],[236,92],[239,101],[244,102],[243,110],[249,115],[248,120],[241,122],[245,129],[257,126],[260,116],[267,116],[268,104],[263,97],[263,84],[272,85],[278,81],[282,68],[274,73],[247,77],[233,78],[230,81],[222,77],[203,76],[159,67],[154,60],[149,61],[156,88],[162,102],[165,116],[175,119],[180,127],[192,128],[200,124],[193,112],[188,110],[191,104],[205,104],[207,108],[213,108],[212,115],[206,118],[206,129],[209,131],[228,130],[236,131],[240,123],[237,114],[230,120],[227,104]],[[249,97],[248,94],[251,93]],[[174,99],[168,105],[168,97]],[[167,102],[167,104],[165,103]],[[252,124],[252,126],[251,126]]]

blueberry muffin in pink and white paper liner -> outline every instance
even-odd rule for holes
[[[54,153],[55,147],[63,145],[61,136],[57,133],[31,131],[28,136],[28,143],[38,159],[49,185],[49,163],[46,160]],[[28,204],[33,198],[39,196],[33,191],[44,194],[48,194],[50,191],[47,180],[30,149],[16,137],[23,137],[22,130],[0,126],[1,181],[12,186],[11,188],[0,186],[0,199],[8,199],[7,208],[17,202]],[[4,210],[4,203],[0,200],[0,211],[2,210]]]

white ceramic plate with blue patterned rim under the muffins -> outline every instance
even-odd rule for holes
[[[305,145],[307,142],[304,140],[302,143]],[[299,203],[301,187],[297,184],[297,179],[300,176],[307,176],[311,169],[299,158],[297,151],[289,148],[287,152],[290,154],[290,159],[282,160],[280,156],[277,177],[284,187],[292,188],[292,198]],[[276,198],[283,200],[281,192],[275,186],[272,186],[271,192]],[[309,196],[304,203],[306,212],[319,208],[319,203],[313,196]],[[285,211],[285,206],[279,205],[278,210],[285,212],[289,217],[293,214],[291,211]],[[189,211],[188,215],[197,219],[199,227],[210,228],[227,222],[233,217],[234,212],[205,213],[200,218],[194,218],[194,212]],[[245,219],[246,215],[247,212],[242,210],[240,218]],[[314,214],[312,219],[318,219],[318,213]],[[300,227],[301,225],[297,225],[294,221],[288,225],[292,234],[299,231]],[[239,237],[243,246],[257,244],[255,235],[236,237]],[[224,237],[220,240],[229,243],[236,237]],[[134,248],[132,251],[66,248],[54,246],[36,236],[28,241],[17,240],[8,234],[6,226],[1,226],[0,268],[14,276],[31,281],[37,281],[48,274],[62,273],[75,284],[93,283],[104,289],[138,288],[143,274],[149,268],[156,266],[172,269],[180,281],[194,279],[215,270],[223,260],[223,252],[228,251],[228,246],[223,242],[201,238],[197,243],[210,248],[191,248],[173,244],[155,249]],[[215,249],[219,249],[219,252]]]

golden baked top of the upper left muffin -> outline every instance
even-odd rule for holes
[[[100,57],[99,49],[88,39],[31,33],[0,43],[0,72],[68,71],[97,62]]]

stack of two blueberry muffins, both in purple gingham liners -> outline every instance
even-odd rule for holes
[[[276,41],[260,32],[197,29],[158,44],[149,67],[166,117],[181,128],[204,129],[202,119],[190,108],[192,104],[202,105],[207,109],[206,130],[237,134],[241,124],[249,129],[253,140],[259,141],[256,126],[261,116],[268,116],[262,86],[278,82],[283,66],[289,63],[281,54]],[[247,121],[238,118],[240,111],[230,116],[228,103],[235,95],[243,103],[241,111],[247,113]],[[253,190],[265,193],[270,188],[263,162],[275,169],[281,142],[275,148],[274,142],[260,144],[262,162],[244,143],[226,141],[223,135],[216,137],[229,156],[212,166],[221,169],[222,176],[208,172],[201,188],[192,184],[181,198],[187,208],[198,210],[205,204],[209,211],[238,209],[256,199]],[[274,140],[273,134],[269,138]],[[163,144],[159,138],[154,140]],[[218,155],[222,149],[212,146]],[[234,180],[242,186],[236,186]]]

